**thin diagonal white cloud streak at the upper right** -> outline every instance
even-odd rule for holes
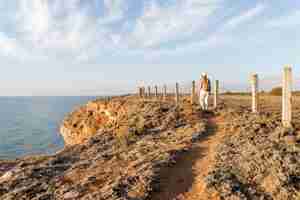
[[[237,26],[244,24],[244,23],[252,20],[253,18],[257,17],[264,11],[264,9],[265,9],[265,5],[262,3],[259,3],[255,7],[247,10],[246,12],[230,19],[224,25],[224,28],[225,29],[234,29]]]

